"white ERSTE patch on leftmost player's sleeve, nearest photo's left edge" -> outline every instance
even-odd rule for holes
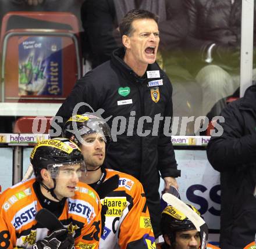
[[[34,221],[36,214],[37,201],[33,201],[33,203],[16,212],[15,216],[12,219],[12,225],[14,226],[15,230],[18,230],[22,226],[30,223],[31,221]]]

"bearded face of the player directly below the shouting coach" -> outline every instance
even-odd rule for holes
[[[83,136],[84,142],[80,149],[84,156],[87,169],[95,169],[101,166],[105,159],[105,142],[99,133],[91,133]]]

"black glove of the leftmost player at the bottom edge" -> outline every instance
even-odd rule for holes
[[[59,229],[43,240],[38,240],[33,249],[74,249],[74,238],[67,232],[67,229]]]

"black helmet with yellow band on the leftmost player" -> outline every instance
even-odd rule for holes
[[[41,180],[41,169],[51,172],[56,178],[58,168],[64,165],[81,164],[81,170],[86,171],[84,158],[79,147],[65,138],[47,139],[38,142],[30,155],[35,177]]]

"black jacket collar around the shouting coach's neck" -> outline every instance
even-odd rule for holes
[[[123,74],[128,78],[141,80],[141,78],[134,73],[134,71],[123,61],[123,57],[125,57],[125,48],[119,48],[113,51],[111,56],[111,62],[115,67],[117,67]],[[147,71],[160,71],[160,77],[163,78],[163,72],[161,68],[158,66],[157,62],[153,64],[148,64]],[[154,78],[150,79],[154,80]]]

